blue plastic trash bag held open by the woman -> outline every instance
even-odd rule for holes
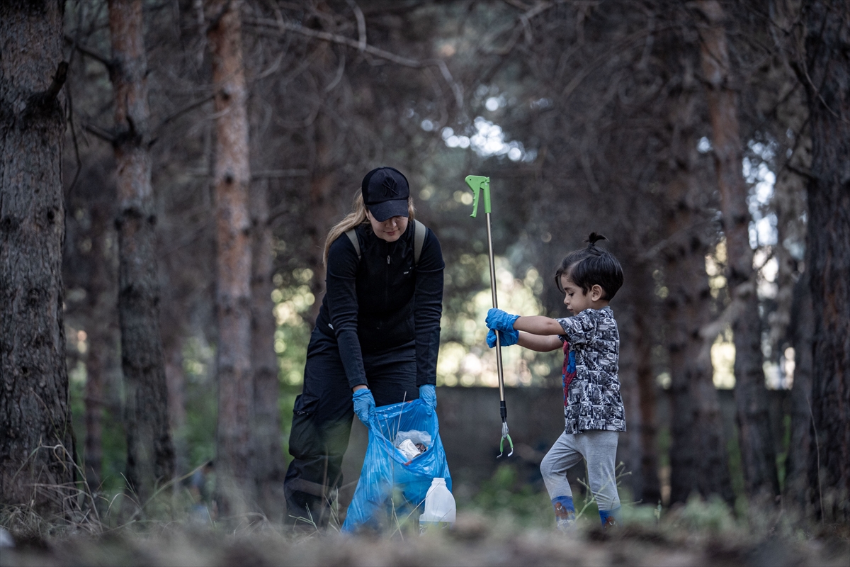
[[[411,430],[430,434],[431,445],[428,451],[408,462],[395,448],[393,440],[399,431]],[[369,446],[354,498],[348,505],[343,531],[394,527],[392,515],[395,514],[396,522],[414,515],[416,508],[425,502],[431,481],[437,477],[444,478],[451,490],[449,463],[439,439],[437,413],[429,411],[422,400],[377,408],[369,422]]]

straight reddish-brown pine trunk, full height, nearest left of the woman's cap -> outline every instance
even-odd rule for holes
[[[218,314],[219,510],[225,515],[253,504],[251,371],[251,219],[248,120],[241,46],[241,2],[207,7],[212,24],[216,114],[216,241]]]

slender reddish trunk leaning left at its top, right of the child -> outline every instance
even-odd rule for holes
[[[700,0],[696,5],[705,17],[700,26],[700,59],[708,83],[711,143],[728,257],[727,285],[737,310],[732,330],[741,461],[747,494],[772,497],[779,493],[779,479],[762,367],[762,328],[752,269],[747,187],[741,174],[738,94],[732,84],[723,8],[717,0]]]

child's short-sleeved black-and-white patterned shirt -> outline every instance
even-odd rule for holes
[[[620,332],[614,312],[610,307],[585,309],[557,321],[564,328],[560,336],[565,348],[564,432],[626,431],[617,377]],[[575,368],[575,377],[570,376],[570,366]]]

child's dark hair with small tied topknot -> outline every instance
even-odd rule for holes
[[[604,300],[610,301],[614,298],[617,290],[623,285],[623,269],[614,254],[596,247],[598,241],[607,240],[603,235],[592,232],[585,241],[587,247],[570,252],[561,260],[561,265],[555,271],[555,285],[561,293],[564,293],[561,276],[566,275],[585,293],[589,292],[592,286],[598,285],[605,292]]]

